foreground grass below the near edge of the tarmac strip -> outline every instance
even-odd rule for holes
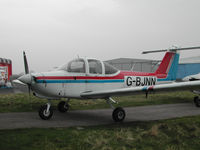
[[[96,127],[0,130],[2,150],[199,150],[200,116]]]

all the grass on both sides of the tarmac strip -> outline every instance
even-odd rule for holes
[[[192,103],[194,94],[175,92],[114,97],[122,107]],[[36,111],[47,100],[27,94],[0,95],[0,112]],[[53,100],[56,107],[59,101]],[[109,108],[104,100],[70,101],[72,110]],[[200,116],[107,126],[0,130],[0,150],[198,150]]]

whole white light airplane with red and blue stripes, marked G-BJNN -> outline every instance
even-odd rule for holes
[[[48,99],[39,109],[39,116],[50,119],[53,115],[52,99],[66,98],[58,104],[60,112],[69,109],[70,98],[104,99],[113,109],[112,118],[116,122],[124,120],[126,114],[122,107],[114,108],[116,103],[111,97],[127,94],[148,94],[157,91],[193,90],[200,88],[200,81],[174,82],[178,68],[179,50],[199,49],[200,47],[176,48],[148,51],[166,54],[154,73],[119,71],[113,66],[97,60],[78,58],[50,72],[29,73],[27,58],[24,54],[25,75],[18,82],[27,84],[33,95]],[[199,99],[197,103],[200,103]]]

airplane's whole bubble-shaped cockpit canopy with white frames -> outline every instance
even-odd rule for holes
[[[106,62],[102,62],[96,59],[82,59],[78,58],[70,61],[58,68],[71,73],[87,73],[96,75],[110,75],[115,74],[118,70]]]

